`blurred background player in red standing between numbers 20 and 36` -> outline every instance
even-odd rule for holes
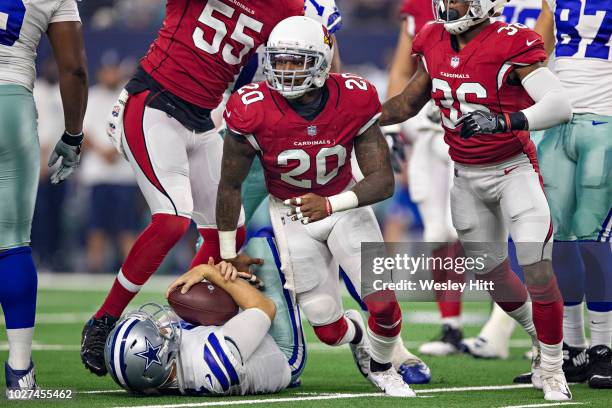
[[[399,94],[416,71],[417,64],[410,58],[414,36],[434,19],[431,0],[404,0],[400,14],[402,23],[389,69],[387,98]],[[444,143],[444,131],[435,104],[429,102],[416,117],[401,126],[386,126],[383,132],[387,139],[391,139],[394,152],[399,151],[399,154],[404,151],[400,132],[412,141],[412,153],[408,161],[408,189],[423,219],[423,240],[436,246],[432,256],[440,259],[460,256],[463,251],[450,214],[452,161],[448,155],[448,146]],[[440,265],[433,267],[432,277],[440,283],[464,281],[463,274],[446,270]],[[442,318],[442,331],[435,340],[421,344],[419,353],[434,356],[457,353],[462,349],[463,339],[461,292],[437,290],[435,296]]]

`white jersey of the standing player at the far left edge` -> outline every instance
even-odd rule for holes
[[[0,2],[0,84],[34,88],[36,49],[49,24],[81,21],[76,0]]]

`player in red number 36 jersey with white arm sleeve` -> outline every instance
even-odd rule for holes
[[[547,400],[569,400],[561,369],[563,303],[550,261],[553,229],[529,130],[567,122],[572,108],[543,64],[540,36],[491,21],[504,4],[435,0],[436,23],[414,40],[417,71],[384,104],[381,124],[405,121],[429,99],[440,107],[455,162],[451,209],[459,239],[468,256],[484,257],[479,278],[494,283],[493,299],[532,336],[534,385]],[[508,266],[508,229],[527,288]]]

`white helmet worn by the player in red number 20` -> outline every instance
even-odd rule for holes
[[[272,30],[265,50],[264,74],[268,86],[287,99],[321,88],[331,69],[333,41],[321,23],[303,16],[289,17]],[[300,65],[299,69],[277,64]]]

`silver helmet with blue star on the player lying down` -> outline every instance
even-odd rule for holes
[[[178,316],[168,306],[147,303],[123,316],[108,336],[106,368],[127,391],[153,392],[170,378],[180,340]]]

